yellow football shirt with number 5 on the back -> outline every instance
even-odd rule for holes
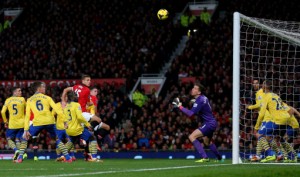
[[[1,114],[4,123],[7,122],[6,111],[9,112],[9,129],[24,128],[26,101],[24,97],[12,96],[5,100]]]

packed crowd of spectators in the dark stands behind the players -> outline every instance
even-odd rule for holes
[[[261,9],[268,7],[265,13],[249,5],[253,1],[220,1],[211,23],[198,24],[198,32],[190,36],[183,54],[172,63],[163,94],[158,98],[148,95],[142,108],[130,101],[127,92],[140,74],[160,71],[181,38],[181,30],[171,20],[156,20],[160,3],[129,2],[131,6],[120,15],[115,14],[123,1],[28,2],[25,6],[30,6],[29,10],[25,9],[16,25],[0,35],[0,41],[4,41],[0,43],[0,79],[71,79],[85,72],[92,78],[126,78],[125,91],[112,85],[99,87],[98,113],[111,126],[109,134],[101,139],[101,148],[147,151],[193,149],[188,135],[199,126],[197,117],[188,118],[173,110],[170,100],[180,96],[184,105],[191,106],[189,91],[193,85],[182,83],[180,78],[196,77],[206,85],[206,95],[218,120],[213,140],[218,149],[231,149],[232,13],[238,10],[249,16],[276,18],[279,13],[266,5],[274,2],[255,1]],[[170,12],[178,11],[171,3],[166,7]],[[286,18],[293,19],[289,17],[291,14]],[[59,101],[62,89],[48,88],[47,93]],[[29,89],[23,90],[23,96],[28,98]],[[9,88],[0,86],[0,107],[9,95]],[[7,149],[5,129],[3,124],[0,126],[0,149]],[[248,135],[244,138],[251,141],[253,137]],[[54,149],[49,139],[47,134],[42,135],[39,146]]]

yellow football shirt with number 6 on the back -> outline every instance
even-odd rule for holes
[[[29,129],[30,110],[34,114],[33,126],[55,124],[54,116],[50,111],[54,109],[57,115],[64,117],[63,111],[57,108],[51,97],[42,93],[36,93],[27,100],[24,130]]]

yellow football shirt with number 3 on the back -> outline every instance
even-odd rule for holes
[[[66,132],[70,136],[78,136],[82,134],[83,127],[81,123],[85,126],[90,126],[90,123],[88,123],[82,116],[81,106],[77,102],[68,103],[64,109],[64,114],[68,122]]]

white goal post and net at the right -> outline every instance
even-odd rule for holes
[[[234,14],[233,163],[256,154],[254,125],[258,111],[252,81],[272,81],[273,92],[300,110],[300,23]],[[260,85],[261,88],[261,85]],[[296,136],[294,137],[297,138]],[[294,141],[296,142],[296,141]],[[299,146],[294,143],[295,149]]]

